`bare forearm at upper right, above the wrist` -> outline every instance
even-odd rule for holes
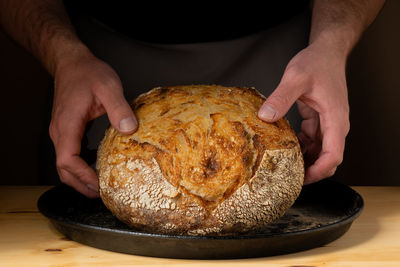
[[[314,0],[310,44],[346,58],[385,0]]]

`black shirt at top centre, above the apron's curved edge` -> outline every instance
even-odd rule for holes
[[[154,43],[234,39],[284,23],[309,7],[308,0],[260,2],[250,5],[237,1],[223,7],[198,1],[186,1],[186,5],[178,7],[171,6],[169,1],[66,0],[64,3],[72,20],[76,16],[90,16],[130,38]]]

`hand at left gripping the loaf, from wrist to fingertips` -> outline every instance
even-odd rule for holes
[[[55,72],[49,132],[60,180],[90,198],[99,196],[99,184],[95,171],[80,157],[81,141],[86,123],[105,112],[121,133],[136,130],[137,120],[115,71],[90,52],[70,56]]]

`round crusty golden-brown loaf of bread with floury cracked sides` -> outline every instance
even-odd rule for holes
[[[126,224],[178,235],[260,230],[298,197],[304,164],[286,119],[257,117],[254,88],[155,88],[132,108],[137,132],[110,127],[97,159],[104,204]]]

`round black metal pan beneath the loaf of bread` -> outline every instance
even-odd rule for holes
[[[363,199],[346,185],[324,180],[305,186],[286,215],[262,232],[206,237],[137,231],[116,219],[100,199],[87,199],[67,186],[45,192],[38,207],[65,236],[96,248],[153,257],[234,259],[292,253],[332,242],[359,216]]]

